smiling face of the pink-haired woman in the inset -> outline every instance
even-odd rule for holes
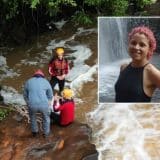
[[[150,50],[149,40],[144,34],[135,33],[129,41],[129,55],[134,61],[147,60]]]

